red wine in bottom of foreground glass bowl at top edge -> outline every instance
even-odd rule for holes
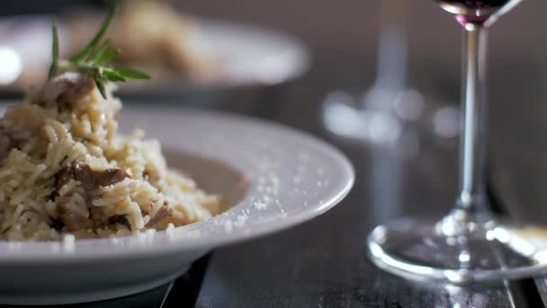
[[[458,22],[482,24],[511,0],[435,0],[445,11],[456,14]]]

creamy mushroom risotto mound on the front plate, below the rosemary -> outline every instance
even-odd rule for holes
[[[0,119],[0,239],[58,240],[206,220],[219,198],[166,168],[157,140],[118,132],[121,102],[65,72]]]

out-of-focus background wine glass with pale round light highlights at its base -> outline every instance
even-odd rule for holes
[[[426,97],[408,87],[406,82],[405,1],[383,0],[380,3],[376,80],[361,98],[344,91],[327,95],[322,121],[336,136],[381,147],[397,144],[404,156],[412,156],[420,149],[420,134],[424,132],[420,130],[426,130],[427,138],[452,140],[458,137],[459,111],[452,106],[442,107],[428,114],[432,119],[424,119]]]

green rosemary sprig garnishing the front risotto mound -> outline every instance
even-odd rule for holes
[[[93,40],[68,60],[60,60],[58,57],[58,32],[57,27],[53,25],[52,60],[51,67],[49,68],[49,79],[67,71],[90,74],[94,78],[95,85],[104,99],[106,99],[104,85],[108,82],[125,82],[127,79],[150,79],[148,74],[138,70],[115,68],[107,65],[121,53],[120,50],[109,50],[112,42],[110,39],[103,41],[104,34],[108,31],[114,14],[115,7],[112,7]]]

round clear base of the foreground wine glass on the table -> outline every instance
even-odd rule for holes
[[[440,230],[443,223],[404,218],[380,225],[368,237],[369,256],[392,274],[453,284],[516,279],[547,269],[547,245],[536,245],[531,235],[537,229],[488,222],[447,236]]]

